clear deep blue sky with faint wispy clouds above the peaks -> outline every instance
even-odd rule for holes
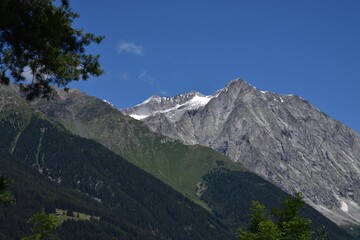
[[[299,95],[360,132],[358,0],[71,1],[105,74],[71,87],[131,107],[234,78]]]

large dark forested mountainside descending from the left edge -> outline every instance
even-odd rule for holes
[[[19,239],[42,208],[100,217],[65,222],[60,239],[234,239],[211,213],[101,144],[75,136],[0,89],[1,174],[16,202],[0,206],[0,238]],[[4,214],[3,214],[4,213]],[[89,237],[91,236],[91,238]]]

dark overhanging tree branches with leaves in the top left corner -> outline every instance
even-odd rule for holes
[[[102,73],[99,56],[85,53],[103,37],[72,27],[68,0],[0,1],[0,83],[21,83],[28,99],[50,97],[52,85],[66,89],[70,81]],[[28,72],[32,79],[25,79]],[[30,80],[30,84],[24,84]]]

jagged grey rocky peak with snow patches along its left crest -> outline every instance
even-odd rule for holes
[[[124,114],[185,144],[200,144],[301,192],[338,224],[360,224],[360,136],[306,100],[242,80],[212,96],[151,97]]]

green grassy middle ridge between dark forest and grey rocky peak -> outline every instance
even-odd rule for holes
[[[31,104],[72,133],[101,143],[204,207],[195,189],[205,174],[220,162],[232,170],[244,169],[210,148],[186,146],[153,133],[111,104],[76,89],[58,90],[51,101],[37,99]]]

